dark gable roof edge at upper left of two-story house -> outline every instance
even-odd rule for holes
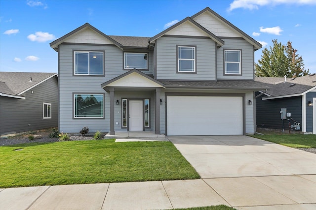
[[[119,48],[122,48],[122,45],[120,43],[118,43],[116,40],[114,40],[113,38],[111,38],[110,36],[106,35],[105,33],[101,32],[100,30],[97,30],[96,28],[94,28],[93,26],[91,26],[88,23],[83,24],[82,26],[80,26],[79,28],[67,33],[66,35],[60,37],[59,39],[56,39],[55,41],[51,42],[49,45],[51,48],[53,48],[55,51],[58,51],[58,45],[60,45],[61,43],[63,43],[65,41],[65,39],[79,33],[82,30],[85,29],[91,29],[93,31],[95,31],[96,33],[100,34],[101,36],[103,36],[104,38],[110,40],[111,42],[113,42],[113,44],[115,44],[116,46],[118,46]]]

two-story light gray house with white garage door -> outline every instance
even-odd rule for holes
[[[60,131],[255,132],[254,91],[268,88],[254,81],[262,46],[208,7],[153,37],[110,36],[86,23],[50,46]]]

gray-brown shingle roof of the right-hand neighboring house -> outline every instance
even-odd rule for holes
[[[316,89],[316,74],[287,78],[285,82],[282,77],[255,77],[255,81],[272,84],[267,90],[269,97],[263,100],[299,96]]]

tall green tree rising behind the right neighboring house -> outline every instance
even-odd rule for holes
[[[258,77],[300,77],[308,75],[309,70],[304,69],[302,56],[298,56],[297,49],[288,41],[284,46],[277,40],[272,40],[273,47],[262,51],[261,60],[255,63],[255,75]]]

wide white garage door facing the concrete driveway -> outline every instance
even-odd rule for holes
[[[242,97],[167,96],[167,135],[242,135]]]

